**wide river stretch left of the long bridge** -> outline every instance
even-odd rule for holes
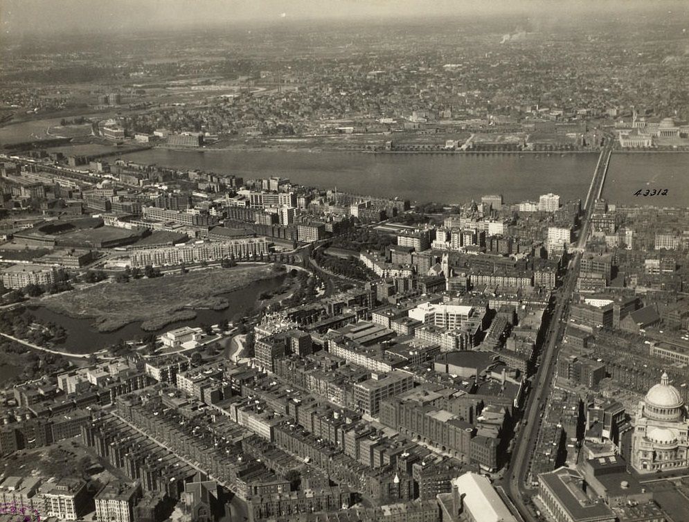
[[[460,203],[485,194],[505,201],[555,192],[564,201],[586,197],[598,154],[369,154],[152,149],[123,156],[142,163],[235,174],[287,177],[306,186]]]

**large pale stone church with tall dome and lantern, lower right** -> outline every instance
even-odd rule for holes
[[[689,468],[689,420],[682,396],[665,372],[639,403],[632,466],[639,473]]]

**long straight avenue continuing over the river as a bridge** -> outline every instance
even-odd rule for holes
[[[555,309],[553,316],[548,322],[548,330],[546,331],[546,336],[541,346],[541,364],[533,378],[532,387],[524,411],[524,417],[521,421],[521,430],[514,443],[514,451],[512,451],[510,460],[510,471],[505,476],[505,480],[502,484],[505,493],[512,499],[512,502],[517,507],[521,519],[528,522],[537,522],[537,516],[526,505],[526,497],[530,494],[535,494],[535,490],[530,484],[526,484],[526,480],[529,475],[531,460],[535,451],[539,429],[542,424],[539,413],[544,411],[542,408],[546,407],[548,391],[551,389],[551,384],[555,375],[557,349],[559,347],[559,341],[564,334],[564,328],[566,327],[569,301],[575,290],[582,251],[584,246],[586,246],[586,240],[591,226],[593,207],[596,200],[600,198],[602,192],[602,185],[605,182],[605,173],[609,165],[611,151],[612,148],[610,145],[606,145],[600,151],[598,164],[591,178],[589,193],[584,202],[584,217],[580,227],[580,235],[576,243],[577,249],[575,251],[575,257],[566,270],[560,289],[555,292]]]

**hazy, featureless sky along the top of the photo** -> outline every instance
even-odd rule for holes
[[[242,21],[288,24],[303,19],[390,19],[447,15],[471,19],[513,12],[533,17],[631,14],[635,10],[686,13],[689,2],[654,0],[0,0],[3,37],[42,31],[111,32]]]

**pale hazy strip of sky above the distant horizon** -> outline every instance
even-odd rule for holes
[[[242,24],[267,24],[276,28],[313,21],[319,24],[335,21],[367,23],[402,23],[415,20],[456,20],[463,24],[472,19],[516,20],[514,33],[521,30],[544,30],[562,23],[609,19],[627,24],[639,16],[677,19],[687,15],[681,1],[663,2],[663,9],[644,0],[596,2],[578,1],[502,1],[480,4],[465,0],[201,0],[190,8],[185,0],[123,0],[117,3],[88,0],[8,0],[0,6],[3,33],[6,37],[39,33],[129,33],[132,30],[170,30],[172,28],[206,28],[222,30]]]

